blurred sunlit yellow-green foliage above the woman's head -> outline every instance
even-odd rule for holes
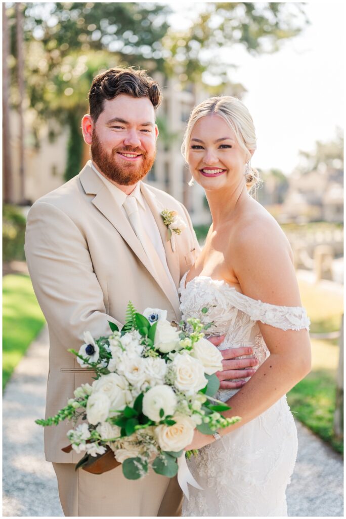
[[[164,45],[170,57],[166,70],[178,70],[182,80],[199,80],[208,72],[229,83],[220,48],[228,50],[240,45],[253,55],[275,52],[283,40],[299,34],[308,23],[302,4],[283,2],[211,2],[196,4],[200,12],[188,31],[168,31]]]

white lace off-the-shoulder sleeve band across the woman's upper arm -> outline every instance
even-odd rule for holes
[[[301,306],[277,306],[256,301],[244,294],[234,292],[234,303],[247,313],[252,321],[261,321],[281,330],[309,330],[310,319]]]

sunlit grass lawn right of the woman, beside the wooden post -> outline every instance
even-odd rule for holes
[[[342,315],[342,295],[319,285],[299,281],[302,304],[311,319],[311,331],[338,330]],[[333,432],[336,370],[339,360],[337,341],[311,340],[312,370],[288,394],[287,401],[296,418],[334,449],[342,453],[343,442]]]

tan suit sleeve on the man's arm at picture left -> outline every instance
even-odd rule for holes
[[[36,202],[28,213],[25,256],[38,303],[50,333],[79,349],[83,333],[110,333],[105,295],[95,275],[81,229],[62,210]]]

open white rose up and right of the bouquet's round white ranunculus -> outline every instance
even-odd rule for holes
[[[186,394],[193,394],[203,389],[208,380],[204,376],[203,364],[188,354],[177,355],[172,362],[175,368],[175,386]]]

